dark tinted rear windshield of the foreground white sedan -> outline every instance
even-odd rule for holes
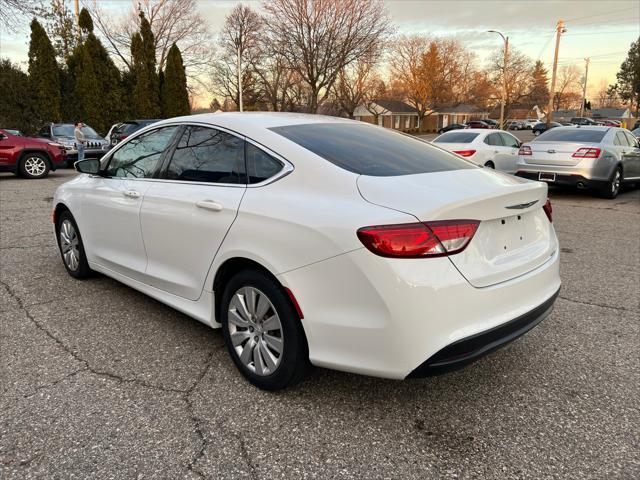
[[[426,142],[380,127],[315,123],[271,130],[359,175],[391,177],[475,168]]]

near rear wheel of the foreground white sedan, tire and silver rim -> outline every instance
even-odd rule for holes
[[[222,294],[222,334],[242,375],[263,390],[280,390],[309,372],[300,316],[282,286],[258,270],[233,276]]]

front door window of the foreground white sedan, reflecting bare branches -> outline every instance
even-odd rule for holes
[[[106,175],[126,178],[152,177],[178,128],[163,127],[129,140],[116,150],[109,160]]]

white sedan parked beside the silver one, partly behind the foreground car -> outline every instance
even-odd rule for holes
[[[515,173],[520,141],[504,130],[467,128],[443,133],[433,143],[476,165]]]

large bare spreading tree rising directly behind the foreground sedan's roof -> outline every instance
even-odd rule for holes
[[[380,54],[391,30],[380,0],[270,0],[263,8],[271,44],[308,86],[310,112],[345,67]]]

